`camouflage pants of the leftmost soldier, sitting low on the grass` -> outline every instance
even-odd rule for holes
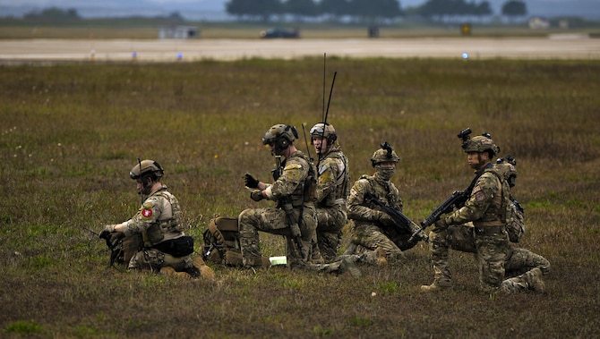
[[[149,269],[152,272],[159,272],[161,267],[167,266],[173,267],[177,272],[185,271],[192,267],[192,258],[190,256],[176,258],[157,249],[143,249],[133,255],[127,269]]]

